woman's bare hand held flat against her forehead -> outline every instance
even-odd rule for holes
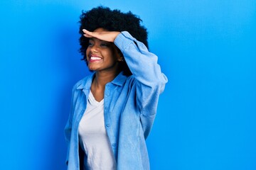
[[[82,31],[85,33],[84,36],[87,38],[97,38],[107,42],[114,42],[115,38],[117,38],[117,35],[120,33],[118,31],[90,32],[89,30],[85,29]]]

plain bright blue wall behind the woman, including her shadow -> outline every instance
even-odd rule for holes
[[[66,168],[79,16],[100,4],[142,18],[169,78],[151,169],[256,169],[255,0],[1,1],[0,169]]]

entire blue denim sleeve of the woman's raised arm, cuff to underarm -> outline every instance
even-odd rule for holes
[[[114,44],[121,50],[132,77],[136,79],[137,106],[141,111],[144,136],[147,137],[154,122],[159,95],[168,81],[167,77],[157,64],[158,57],[127,31],[117,35]]]

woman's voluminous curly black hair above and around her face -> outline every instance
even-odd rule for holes
[[[142,20],[135,16],[131,11],[128,13],[122,13],[121,11],[104,6],[98,6],[97,8],[92,8],[90,11],[82,11],[80,16],[80,53],[82,54],[82,60],[86,61],[86,50],[89,45],[89,38],[85,38],[82,29],[89,31],[94,31],[97,28],[104,28],[109,31],[128,31],[134,38],[143,42],[146,47],[148,47],[147,42],[147,31],[144,26],[140,23]],[[86,61],[87,62],[87,61]],[[122,69],[126,74],[131,74],[126,62],[122,65]]]

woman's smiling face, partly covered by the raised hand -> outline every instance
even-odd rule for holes
[[[107,31],[103,28],[97,28],[94,32]],[[117,47],[113,42],[90,38],[89,46],[86,50],[88,67],[92,71],[116,71],[118,62],[122,60],[117,52]]]

